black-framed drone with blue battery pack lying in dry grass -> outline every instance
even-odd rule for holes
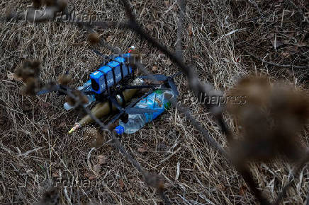
[[[118,114],[113,117],[113,119],[111,119],[108,124],[112,124],[124,115],[128,117],[128,115],[156,112],[155,110],[138,108],[133,106],[157,88],[172,90],[175,95],[179,94],[177,87],[174,83],[174,77],[180,74],[180,72],[172,76],[165,76],[161,74],[153,75],[153,78],[155,80],[163,81],[163,83],[161,84],[152,83],[142,84],[139,86],[128,86],[129,81],[132,81],[134,78],[148,79],[150,81],[153,79],[149,78],[148,76],[135,77],[135,69],[130,65],[130,57],[133,57],[131,51],[133,49],[135,49],[135,47],[130,47],[128,53],[120,54],[118,55],[118,57],[115,57],[115,55],[106,56],[101,54],[99,51],[93,49],[93,52],[98,54],[100,57],[103,57],[104,61],[99,66],[99,69],[89,75],[90,79],[86,83],[87,86],[82,88],[82,90],[80,91],[84,93],[84,95],[89,97],[89,99],[94,96],[96,102],[106,102],[106,100],[108,100],[111,110],[113,110],[113,106],[117,108],[117,110],[119,111]],[[116,96],[120,96],[120,98],[122,98],[121,100],[123,100],[124,102],[123,105],[126,104],[125,98],[122,94],[123,90],[142,88],[150,88],[150,90],[145,93],[145,95],[142,95],[142,97],[138,98],[134,102],[131,102],[127,106],[122,106],[119,104]],[[40,90],[37,95],[42,95],[50,92],[57,92],[57,95],[67,95],[67,92],[63,92],[62,90],[70,89],[67,86],[58,84],[55,86],[55,89]]]

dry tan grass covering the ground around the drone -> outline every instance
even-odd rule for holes
[[[196,67],[202,81],[213,83],[216,89],[227,90],[238,79],[249,74],[265,74],[295,86],[308,88],[307,69],[281,68],[262,64],[251,54],[276,64],[308,66],[308,23],[300,23],[295,16],[283,21],[281,11],[293,10],[288,1],[256,1],[259,9],[249,1],[188,1],[184,25],[184,57]],[[0,3],[2,13],[10,6],[23,11],[28,1]],[[304,9],[305,1],[298,0]],[[137,18],[153,37],[173,49],[176,43],[178,7],[176,1],[133,1]],[[101,20],[125,21],[118,1],[74,1],[75,11],[95,11]],[[308,6],[308,5],[307,5]],[[274,11],[278,11],[274,14]],[[275,16],[277,21],[269,22]],[[294,18],[295,17],[295,18]],[[252,20],[257,18],[257,20]],[[256,23],[252,23],[256,21]],[[0,23],[0,203],[33,204],[56,184],[57,177],[72,180],[103,182],[103,187],[78,189],[59,186],[60,201],[104,204],[159,204],[154,189],[147,187],[137,170],[111,144],[105,144],[89,155],[89,134],[84,128],[76,134],[67,131],[84,114],[65,112],[64,97],[54,94],[29,97],[20,94],[22,83],[11,73],[23,59],[42,62],[40,79],[57,81],[69,71],[72,87],[81,85],[100,58],[91,52],[87,33],[75,25],[49,22]],[[243,29],[247,28],[247,29]],[[235,33],[231,33],[235,31]],[[287,34],[289,32],[289,35]],[[141,41],[133,32],[121,29],[98,30],[111,45],[125,50],[135,45],[149,55],[143,62],[157,74],[171,75],[176,67],[164,57],[158,59],[157,49]],[[270,36],[270,37],[269,37]],[[274,49],[271,42],[283,43]],[[291,49],[293,47],[293,49]],[[97,47],[102,53],[108,49]],[[307,75],[307,78],[306,78]],[[198,105],[186,87],[183,76],[176,78],[181,93],[179,101],[189,107],[192,115],[208,129],[218,144],[227,147],[225,136],[203,106]],[[233,127],[232,119],[226,116]],[[176,109],[169,110],[148,124],[146,131],[125,136],[122,144],[147,170],[164,176],[167,196],[173,204],[254,204],[257,201],[247,189],[235,168],[206,146],[201,134]],[[237,131],[237,127],[234,127]],[[302,133],[308,144],[308,129]],[[106,137],[107,140],[107,137]],[[142,149],[140,149],[142,148]],[[31,151],[31,152],[29,152]],[[103,158],[103,160],[102,160]],[[250,168],[264,194],[271,200],[281,192],[292,165],[285,160],[252,163]],[[308,168],[300,170],[284,203],[305,201]],[[66,184],[67,185],[67,184]],[[55,195],[55,194],[54,194]],[[45,194],[45,199],[54,195]],[[57,194],[56,194],[57,195]]]

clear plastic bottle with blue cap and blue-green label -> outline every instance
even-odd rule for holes
[[[151,109],[155,110],[155,112],[129,115],[127,123],[119,120],[119,126],[115,129],[116,133],[132,134],[140,130],[147,122],[152,122],[152,120],[161,115],[165,109],[169,109],[169,107],[171,107],[169,98],[174,97],[175,94],[172,90],[155,90],[135,105],[135,107]]]

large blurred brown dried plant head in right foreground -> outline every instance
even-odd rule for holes
[[[309,117],[304,91],[251,77],[242,79],[230,95],[246,96],[245,105],[227,105],[243,137],[233,148],[237,160],[270,160],[278,153],[292,162],[302,158],[305,148],[298,137]]]

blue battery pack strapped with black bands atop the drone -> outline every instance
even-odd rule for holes
[[[122,54],[90,74],[92,90],[101,94],[132,74],[131,66],[125,64],[128,57],[130,57],[130,53]]]

